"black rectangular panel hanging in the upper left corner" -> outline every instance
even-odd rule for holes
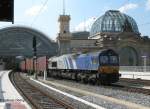
[[[0,0],[0,21],[14,22],[14,0]]]

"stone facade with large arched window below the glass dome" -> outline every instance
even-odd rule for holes
[[[144,65],[143,56],[146,56],[146,65],[150,66],[149,38],[141,37],[132,32],[103,33],[99,37],[101,38],[97,39],[96,46],[101,49],[110,48],[118,52],[121,66],[142,66]]]

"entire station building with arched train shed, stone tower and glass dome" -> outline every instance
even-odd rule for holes
[[[36,37],[37,56],[113,49],[120,56],[121,66],[150,66],[150,38],[141,36],[132,17],[109,10],[97,18],[90,31],[78,32],[70,32],[70,20],[70,15],[59,16],[57,42],[29,27],[0,29],[0,62],[5,59],[6,63],[14,63],[17,56],[33,57],[32,43],[33,37]]]

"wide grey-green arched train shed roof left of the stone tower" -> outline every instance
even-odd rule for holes
[[[57,44],[38,30],[12,26],[0,29],[0,56],[33,56],[33,37],[36,37],[37,56],[53,56]]]

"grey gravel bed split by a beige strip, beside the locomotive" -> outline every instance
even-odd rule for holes
[[[113,109],[147,109],[142,106],[143,103],[146,104],[146,98],[135,93],[127,93],[119,90],[109,90],[112,86],[107,86],[109,88],[104,88],[103,86],[90,86],[80,83],[72,83],[72,81],[62,81],[62,80],[49,80],[44,81],[47,85],[52,85],[60,90],[73,93],[77,96],[83,97],[83,99],[89,100],[103,106],[104,108]],[[78,95],[79,94],[79,95]],[[131,96],[130,96],[131,94]],[[141,96],[144,98],[142,99]],[[134,101],[133,101],[134,99]],[[147,99],[149,101],[149,99]],[[148,103],[149,104],[149,103]],[[149,105],[148,105],[149,107]],[[149,109],[149,108],[148,108]]]

